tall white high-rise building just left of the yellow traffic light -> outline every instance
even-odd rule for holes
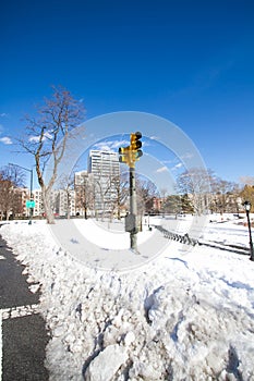
[[[90,150],[87,168],[88,173],[93,174],[95,211],[111,212],[117,201],[120,182],[118,153]]]

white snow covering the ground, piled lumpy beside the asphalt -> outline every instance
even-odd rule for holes
[[[247,228],[239,221],[217,218],[202,238],[247,247]],[[185,233],[192,221],[160,223]],[[112,226],[102,233],[94,225],[93,233],[90,221],[75,224],[96,247],[110,253],[116,245]],[[0,233],[26,265],[28,281],[40,285],[41,314],[52,334],[50,380],[254,380],[249,256],[170,242],[132,271],[102,271],[60,247],[44,221],[12,222]],[[124,233],[117,234],[117,248],[125,249]],[[157,235],[142,239],[153,243]]]

